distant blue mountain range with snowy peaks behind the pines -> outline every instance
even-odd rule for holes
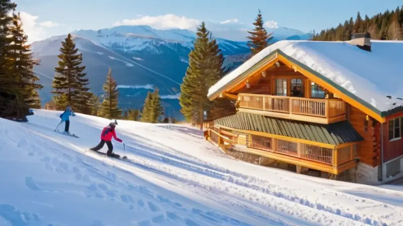
[[[177,98],[188,66],[188,54],[193,47],[194,32],[181,29],[157,30],[141,25],[118,26],[97,31],[77,30],[71,34],[83,54],[85,72],[93,92],[102,94],[102,85],[110,67],[119,84],[121,107],[142,107],[147,91],[158,87],[166,116],[182,118]],[[246,41],[220,38],[230,34],[229,31],[222,31],[221,34],[213,32],[226,57],[226,66],[233,69],[246,60],[249,48]],[[247,35],[246,32],[233,31],[234,37],[240,37],[241,34]],[[51,98],[51,84],[55,74],[54,68],[59,60],[57,55],[60,42],[66,36],[52,36],[31,44],[35,58],[41,60],[34,71],[44,86],[40,91],[43,103]],[[273,36],[274,42],[282,39],[309,38],[309,34],[289,28],[274,30]]]

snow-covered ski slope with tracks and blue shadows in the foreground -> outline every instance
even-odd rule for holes
[[[108,120],[60,112],[0,119],[0,225],[401,225],[400,191],[297,175],[227,157],[200,131],[118,121],[115,152],[86,151]],[[62,125],[63,126],[63,125]],[[106,151],[104,147],[103,151]]]

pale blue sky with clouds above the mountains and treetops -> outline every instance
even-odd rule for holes
[[[335,26],[357,11],[372,16],[395,9],[397,0],[17,0],[30,41],[76,29],[101,29],[119,24],[154,28],[194,28],[200,21],[247,29],[257,9],[270,25],[309,32]],[[164,16],[172,14],[170,16]],[[270,23],[269,23],[270,22]],[[216,29],[216,27],[214,27]],[[211,29],[213,30],[213,28]]]

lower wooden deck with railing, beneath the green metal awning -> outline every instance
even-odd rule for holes
[[[221,150],[228,148],[274,160],[295,164],[330,174],[340,174],[356,166],[358,143],[328,148],[302,142],[287,141],[258,135],[237,135],[214,127],[205,137]]]

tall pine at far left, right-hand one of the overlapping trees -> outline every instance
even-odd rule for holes
[[[11,27],[12,44],[10,45],[9,57],[12,59],[12,74],[18,84],[21,96],[29,107],[40,108],[41,100],[37,89],[43,88],[37,84],[39,77],[33,72],[37,62],[33,59],[28,36],[24,34],[20,14],[13,15]]]

